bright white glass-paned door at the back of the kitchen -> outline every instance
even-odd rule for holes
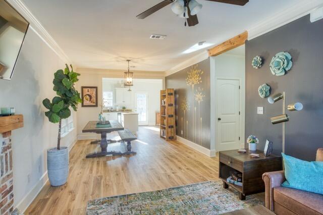
[[[135,112],[138,113],[138,124],[148,125],[148,93],[135,93]]]

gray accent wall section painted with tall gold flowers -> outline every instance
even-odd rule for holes
[[[194,92],[186,81],[191,69],[203,71],[199,76],[200,83],[194,85]],[[175,89],[176,134],[210,149],[210,58],[167,76],[165,81],[166,88]],[[197,93],[203,96],[200,104]],[[185,98],[189,108],[184,116],[182,105]]]

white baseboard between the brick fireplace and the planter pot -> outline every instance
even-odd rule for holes
[[[27,195],[17,204],[17,208],[24,213],[25,210],[29,207],[29,205],[33,202],[33,200],[37,197],[38,193],[45,186],[48,181],[47,170],[40,177],[39,181],[35,184],[35,186],[27,193]]]

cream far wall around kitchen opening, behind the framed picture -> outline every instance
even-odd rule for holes
[[[77,90],[81,91],[82,86],[87,87],[97,87],[98,90],[98,107],[81,107],[79,106],[77,112],[77,136],[78,139],[93,139],[98,138],[99,136],[95,133],[83,133],[82,129],[88,121],[97,120],[98,114],[101,111],[102,103],[102,79],[103,78],[114,78],[114,79],[123,79],[125,70],[114,70],[114,69],[91,69],[91,68],[79,68],[78,73],[81,74],[79,77],[79,82],[77,83]],[[150,80],[163,80],[163,88],[165,87],[165,72],[158,71],[133,71],[134,79],[150,79]],[[134,83],[136,88],[136,84]],[[143,88],[145,89],[145,88]],[[159,98],[159,91],[156,94],[156,97]],[[151,100],[153,101],[153,100]],[[159,104],[159,100],[157,102]],[[149,118],[151,118],[149,116]],[[153,116],[154,118],[154,116]]]

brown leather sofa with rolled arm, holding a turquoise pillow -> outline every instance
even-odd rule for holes
[[[323,161],[323,148],[316,152],[316,161]],[[323,214],[323,195],[282,187],[284,171],[262,175],[265,184],[265,206],[277,214]],[[322,186],[322,185],[320,185]]]

